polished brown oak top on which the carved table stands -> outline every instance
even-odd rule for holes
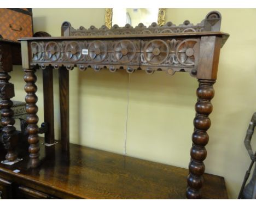
[[[19,189],[36,189],[56,198],[185,199],[188,169],[75,144],[70,145],[70,154],[63,154],[60,143],[54,148],[42,142],[41,138],[39,168],[28,169],[26,156],[13,166],[0,164],[0,177],[15,181],[23,187]],[[0,158],[4,159],[2,151]],[[15,169],[20,173],[13,173]],[[202,198],[228,198],[224,178],[204,174],[204,179]]]

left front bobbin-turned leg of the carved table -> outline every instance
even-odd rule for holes
[[[39,139],[38,139],[38,117],[37,111],[38,107],[36,105],[37,102],[37,86],[35,82],[37,81],[37,77],[34,74],[35,69],[24,69],[25,76],[24,80],[26,82],[25,91],[26,95],[26,111],[27,111],[27,133],[28,133],[28,143],[30,144],[28,148],[28,152],[30,152],[30,167],[36,168],[39,166]]]

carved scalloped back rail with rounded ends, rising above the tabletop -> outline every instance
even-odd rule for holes
[[[114,25],[112,28],[103,25],[101,28],[96,28],[91,26],[89,29],[83,26],[78,29],[74,29],[71,23],[64,22],[62,24],[62,30],[68,30],[65,36],[98,36],[98,35],[129,35],[129,34],[159,34],[159,33],[196,33],[196,32],[206,32],[206,31],[219,31],[221,15],[218,11],[211,11],[208,13],[204,20],[200,23],[194,25],[190,23],[189,20],[185,20],[180,25],[174,25],[172,22],[167,22],[165,25],[158,25],[158,23],[153,22],[152,25],[146,27],[143,23],[139,23],[138,26],[132,27],[126,24],[124,27],[119,27]],[[110,28],[110,29],[109,29]]]

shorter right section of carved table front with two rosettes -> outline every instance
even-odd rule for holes
[[[200,39],[142,40],[140,67],[149,74],[164,70],[169,74],[187,71],[196,74]]]

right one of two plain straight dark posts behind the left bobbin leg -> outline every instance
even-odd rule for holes
[[[59,68],[61,145],[63,151],[69,151],[69,71]]]

